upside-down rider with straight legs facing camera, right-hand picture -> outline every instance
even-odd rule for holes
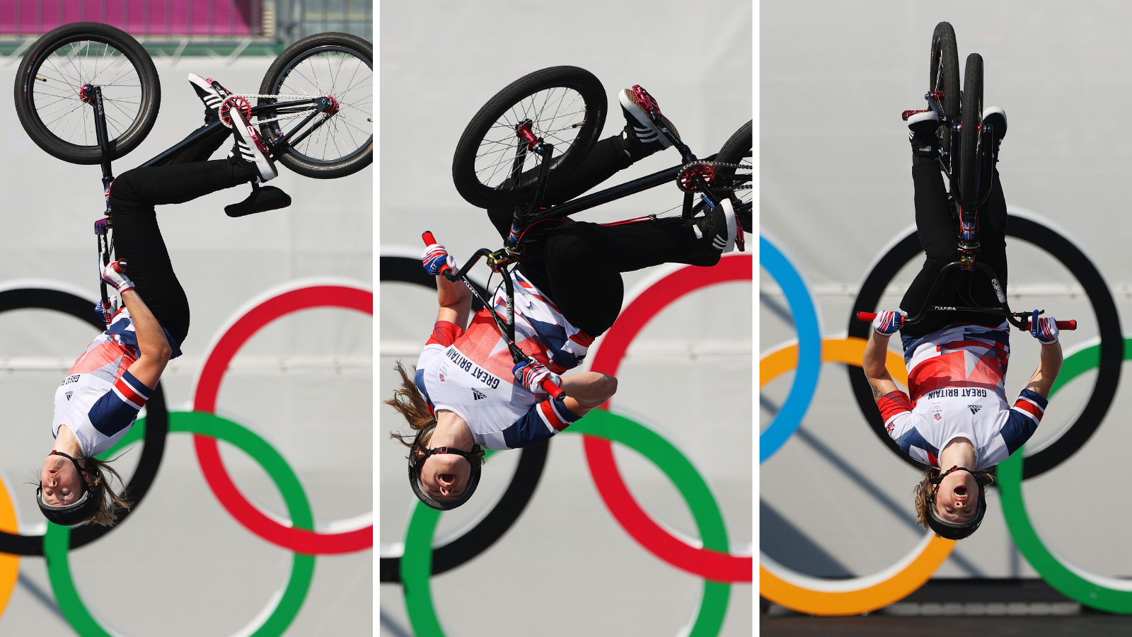
[[[995,162],[1006,134],[1006,113],[992,107],[983,113],[993,127]],[[1041,362],[1014,405],[1006,402],[1003,377],[1010,358],[1010,324],[1000,314],[933,312],[904,324],[928,301],[961,306],[958,272],[952,270],[936,298],[928,295],[936,274],[955,261],[957,236],[938,156],[938,117],[934,111],[908,118],[916,190],[916,230],[926,258],[899,312],[880,312],[865,348],[864,371],[889,435],[912,459],[927,466],[916,486],[917,519],[926,529],[961,540],[978,529],[986,512],[987,473],[1034,435],[1046,399],[1062,365],[1057,325],[1050,317],[1031,321],[1030,333],[1041,343]],[[989,199],[978,210],[980,262],[1006,288],[1006,201],[997,165]],[[987,277],[976,277],[971,299],[997,307]],[[901,333],[908,393],[900,391],[884,367],[889,339]],[[941,469],[942,473],[941,473]]]

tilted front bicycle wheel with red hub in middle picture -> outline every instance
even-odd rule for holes
[[[546,109],[551,104],[556,110],[548,117]],[[560,187],[601,134],[606,90],[590,71],[560,66],[525,75],[496,93],[468,124],[452,158],[452,180],[464,201],[477,207],[530,202],[539,175],[539,155],[526,153],[518,178],[512,178],[518,148],[515,125],[523,119],[532,120],[537,137],[554,144],[549,188]],[[529,163],[534,167],[526,168]]]

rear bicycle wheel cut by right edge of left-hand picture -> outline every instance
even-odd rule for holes
[[[321,71],[326,65],[326,73]],[[345,80],[345,84],[343,84]],[[374,45],[349,33],[319,33],[288,46],[264,75],[263,95],[331,95],[338,108],[310,135],[275,158],[293,172],[315,179],[353,175],[374,163]],[[258,105],[275,97],[259,97]],[[267,111],[260,119],[271,119]],[[301,135],[311,124],[293,133]],[[280,121],[259,125],[266,139],[274,139]],[[340,144],[341,143],[341,144]],[[344,148],[344,150],[343,150]]]

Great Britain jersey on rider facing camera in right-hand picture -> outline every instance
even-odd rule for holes
[[[940,450],[957,438],[971,441],[976,466],[1005,460],[1034,435],[1047,401],[1022,390],[1007,405],[1003,377],[1010,326],[953,324],[923,338],[906,337],[908,391],[877,401],[889,435],[912,459],[940,467]]]

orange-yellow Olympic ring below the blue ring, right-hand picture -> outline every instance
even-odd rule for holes
[[[860,366],[865,339],[822,339],[822,362]],[[789,345],[771,351],[758,362],[758,387],[794,370],[798,364],[798,346]],[[908,384],[903,358],[889,351],[884,366],[902,385]],[[849,615],[883,609],[903,600],[924,585],[947,559],[955,542],[932,532],[891,567],[850,579],[809,577],[760,558],[758,594],[790,610],[817,615]]]

